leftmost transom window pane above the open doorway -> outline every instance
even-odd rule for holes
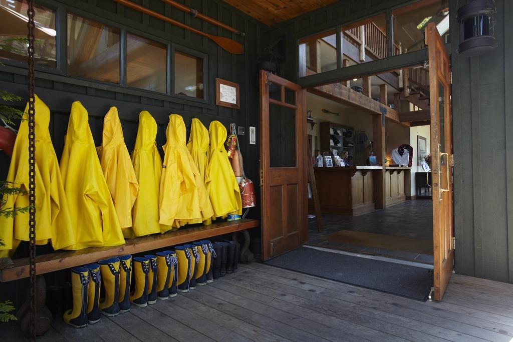
[[[337,36],[334,30],[299,41],[300,75],[337,69]]]

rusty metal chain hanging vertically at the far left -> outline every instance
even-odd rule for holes
[[[36,272],[35,272],[35,96],[34,96],[34,0],[28,0],[28,122],[29,122],[29,274],[30,274],[30,339],[35,341]]]

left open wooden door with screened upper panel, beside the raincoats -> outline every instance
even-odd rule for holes
[[[262,259],[306,242],[306,95],[297,84],[260,71]]]

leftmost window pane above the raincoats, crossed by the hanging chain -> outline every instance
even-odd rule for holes
[[[27,62],[27,1],[0,0],[0,57]],[[55,11],[35,5],[35,63],[55,68]]]

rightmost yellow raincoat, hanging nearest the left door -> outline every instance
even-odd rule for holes
[[[219,121],[212,121],[208,131],[210,156],[205,185],[214,209],[214,216],[225,217],[230,213],[241,215],[241,190],[224,147],[226,128]]]

